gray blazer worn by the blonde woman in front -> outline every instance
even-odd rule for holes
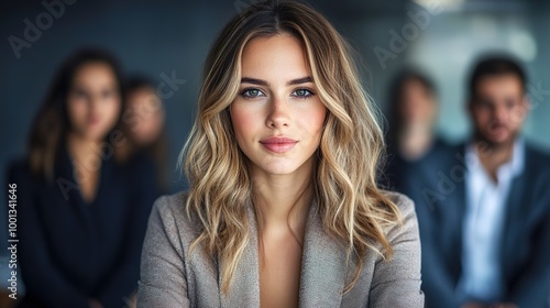
[[[420,290],[420,241],[414,204],[404,195],[387,193],[399,207],[403,226],[387,230],[394,256],[384,262],[375,253],[366,257],[358,284],[342,296],[341,290],[354,270],[346,265],[345,248],[322,228],[316,202],[309,209],[306,226],[300,307],[389,307],[424,306]],[[255,215],[249,207],[252,222],[250,244],[231,280],[230,292],[220,289],[219,265],[200,246],[187,258],[190,243],[200,226],[187,219],[185,194],[164,196],[156,200],[148,221],[142,253],[138,307],[260,307],[257,230]]]

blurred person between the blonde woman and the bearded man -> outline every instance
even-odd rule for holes
[[[422,169],[435,153],[448,146],[435,132],[438,94],[433,81],[408,68],[395,78],[389,92],[387,161],[381,184],[409,195],[416,180],[413,167]]]

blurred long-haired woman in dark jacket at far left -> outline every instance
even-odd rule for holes
[[[61,67],[31,129],[18,185],[19,307],[122,307],[135,293],[154,191],[153,165],[121,166],[113,128],[121,75],[101,51],[82,50]]]

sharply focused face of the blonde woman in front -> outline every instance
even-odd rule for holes
[[[312,169],[327,110],[298,40],[283,34],[246,44],[241,86],[230,110],[237,141],[253,172]]]

